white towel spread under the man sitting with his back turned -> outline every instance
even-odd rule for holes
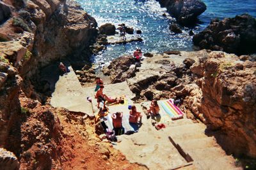
[[[111,118],[111,113],[106,115],[106,117],[100,118],[101,121],[104,121],[108,128],[113,129],[113,122]],[[124,134],[132,134],[134,132],[138,132],[139,125],[138,124],[130,124],[129,123],[129,115],[124,114],[122,118],[122,126],[124,127]]]

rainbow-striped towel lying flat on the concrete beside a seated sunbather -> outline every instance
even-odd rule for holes
[[[172,99],[168,99],[165,101],[159,101],[159,106],[161,107],[160,110],[163,110],[164,113],[167,113],[167,115],[169,117],[171,117],[172,120],[183,118],[182,111],[180,111],[180,109],[173,104]],[[163,111],[162,111],[162,113],[163,113]]]

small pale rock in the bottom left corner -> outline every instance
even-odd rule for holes
[[[0,167],[1,169],[12,170],[19,169],[20,163],[17,157],[12,152],[0,148]]]

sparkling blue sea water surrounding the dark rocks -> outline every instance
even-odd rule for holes
[[[170,15],[163,17],[166,8],[161,8],[156,0],[76,0],[98,25],[124,23],[134,30],[141,30],[142,42],[125,45],[109,45],[99,55],[92,56],[92,62],[99,66],[108,64],[120,55],[131,54],[134,49],[143,52],[164,52],[166,50],[193,50],[192,36],[189,31],[202,31],[209,25],[211,18],[235,17],[249,13],[256,17],[256,0],[204,0],[207,10],[200,15],[199,22],[193,27],[182,27],[181,34],[170,32],[169,26],[175,22]],[[167,14],[167,13],[166,13]]]

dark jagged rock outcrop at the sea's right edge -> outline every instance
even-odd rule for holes
[[[214,19],[204,31],[193,36],[193,43],[200,48],[238,55],[256,52],[256,20],[248,14]]]

